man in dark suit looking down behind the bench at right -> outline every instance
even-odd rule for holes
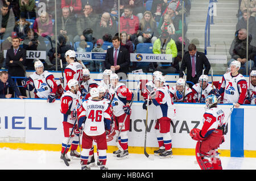
[[[180,67],[179,77],[183,77],[183,71],[187,68],[187,81],[198,83],[199,77],[203,74],[208,75],[210,70],[210,63],[204,53],[197,52],[196,45],[188,45],[188,52],[185,52]],[[192,87],[192,84],[189,84]]]

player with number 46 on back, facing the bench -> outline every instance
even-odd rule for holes
[[[81,152],[81,169],[89,170],[88,159],[89,152],[93,146],[93,141],[97,142],[98,160],[100,169],[106,170],[106,150],[108,149],[106,141],[106,130],[110,129],[110,107],[109,101],[100,97],[96,87],[90,90],[92,99],[82,102],[79,108],[79,128],[84,123],[84,131],[82,132],[82,152]]]

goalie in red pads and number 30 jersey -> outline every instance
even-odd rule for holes
[[[201,170],[222,170],[218,147],[224,142],[226,121],[224,111],[217,107],[215,95],[208,95],[202,129],[193,128],[189,135],[196,144],[196,160]]]

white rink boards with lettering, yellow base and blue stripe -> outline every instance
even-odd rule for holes
[[[192,128],[202,127],[204,104],[176,103],[177,118],[171,123],[172,148],[176,155],[195,155],[196,141],[189,136]],[[228,116],[231,104],[220,105]],[[63,141],[63,115],[60,101],[49,104],[45,99],[0,100],[0,148],[60,151]],[[131,107],[129,131],[130,153],[143,153],[146,111],[142,102]],[[225,142],[220,146],[222,156],[256,157],[256,106],[234,109],[228,122]],[[148,110],[147,152],[158,148],[155,134],[155,109]],[[108,142],[108,152],[117,149],[115,136]]]

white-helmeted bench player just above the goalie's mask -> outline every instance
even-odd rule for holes
[[[208,95],[213,94],[213,92],[218,92],[214,85],[208,83],[208,75],[201,75],[199,82],[192,86],[192,91],[193,103],[205,103],[205,98],[207,98]],[[218,96],[220,96],[220,94]]]

